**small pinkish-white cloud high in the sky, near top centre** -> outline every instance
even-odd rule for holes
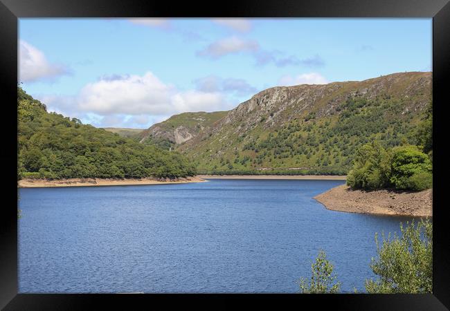
[[[199,51],[197,55],[218,58],[233,53],[255,52],[259,48],[260,46],[257,41],[233,36],[213,42],[204,50]]]

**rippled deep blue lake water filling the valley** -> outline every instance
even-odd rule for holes
[[[298,292],[320,249],[343,292],[375,232],[412,218],[325,209],[341,180],[20,189],[19,292]]]

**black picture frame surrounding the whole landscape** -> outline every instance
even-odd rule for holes
[[[428,17],[433,18],[433,294],[17,294],[17,19],[21,17]],[[450,308],[450,237],[444,204],[445,117],[450,104],[449,0],[308,0],[190,1],[0,0],[0,88],[3,114],[3,204],[1,207],[0,307],[4,310],[98,310],[112,305],[135,310],[154,302],[165,308],[181,299],[186,307],[208,299],[210,308],[228,303],[294,303],[338,310],[448,310]],[[436,148],[436,146],[438,146]],[[5,200],[7,198],[8,200]],[[175,280],[176,281],[176,280]],[[130,304],[134,306],[130,308]],[[310,305],[310,304],[309,304]],[[311,307],[309,307],[311,308]]]

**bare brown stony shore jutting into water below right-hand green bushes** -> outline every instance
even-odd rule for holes
[[[377,215],[433,216],[433,189],[419,192],[362,191],[352,190],[347,185],[341,185],[314,198],[333,211]]]

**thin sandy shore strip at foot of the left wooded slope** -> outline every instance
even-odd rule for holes
[[[181,184],[186,182],[206,182],[197,176],[177,179],[154,179],[154,178],[69,178],[64,180],[45,179],[22,179],[19,180],[20,188],[35,187],[89,187],[89,186],[128,186],[128,185],[163,185]]]

